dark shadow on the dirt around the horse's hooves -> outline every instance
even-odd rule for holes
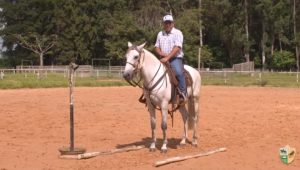
[[[167,146],[168,146],[168,148],[171,148],[171,149],[177,149],[179,147],[180,141],[181,141],[180,138],[169,138]],[[149,148],[151,142],[152,142],[152,138],[146,137],[146,138],[142,138],[140,141],[137,141],[137,142],[127,143],[127,144],[118,144],[116,146],[116,148],[120,149],[120,148],[124,148],[124,147],[129,147],[132,145],[135,145],[135,146],[142,145],[142,146],[145,146],[146,148]],[[156,148],[160,149],[162,144],[163,144],[163,139],[157,138],[156,139]]]

